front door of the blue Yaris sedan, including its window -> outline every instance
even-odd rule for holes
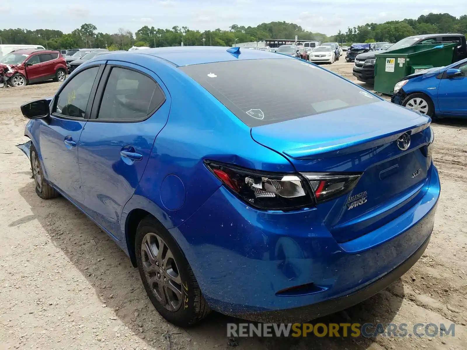
[[[49,119],[41,121],[40,148],[46,179],[73,202],[82,205],[84,192],[78,167],[78,142],[91,112],[99,65],[68,80],[52,103]]]

